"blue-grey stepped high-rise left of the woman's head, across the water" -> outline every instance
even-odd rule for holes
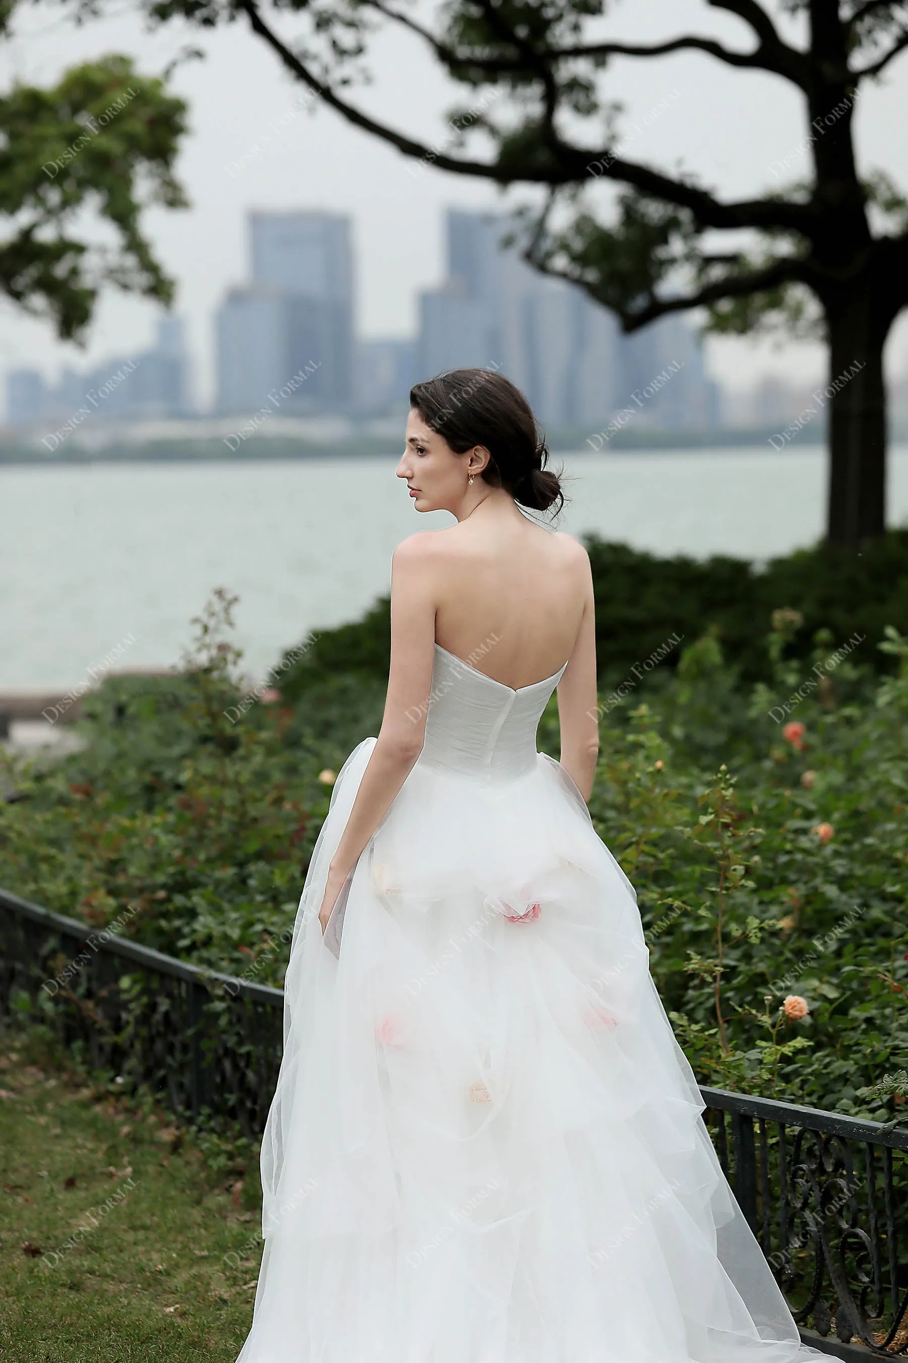
[[[250,213],[252,282],[230,289],[216,318],[222,413],[253,412],[305,373],[287,413],[343,412],[353,397],[350,218]]]

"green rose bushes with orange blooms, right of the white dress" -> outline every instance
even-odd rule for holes
[[[776,613],[764,645],[795,641],[800,622]],[[828,658],[840,639],[817,634]],[[883,642],[901,662],[898,632]],[[788,686],[777,647],[771,665]],[[724,668],[651,680],[645,705],[603,718],[591,814],[634,882],[651,968],[698,1078],[882,1120],[890,1100],[869,1096],[871,1079],[908,1054],[908,694],[897,677],[871,686],[860,667],[843,661],[832,692],[803,699],[791,740],[766,718],[769,687],[721,690]],[[712,771],[697,713],[721,735]],[[641,750],[659,751],[658,784]],[[781,1014],[790,994],[806,1017]]]

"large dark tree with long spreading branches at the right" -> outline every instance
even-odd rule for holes
[[[655,42],[602,37],[607,0],[448,0],[423,22],[406,0],[144,0],[157,20],[211,26],[245,15],[279,61],[365,132],[440,170],[500,185],[539,185],[525,221],[525,258],[574,281],[625,331],[668,312],[705,309],[713,331],[788,326],[829,348],[828,537],[858,545],[885,529],[883,346],[908,297],[908,203],[882,173],[862,176],[854,113],[862,87],[908,46],[908,0],[704,0],[741,20],[743,46],[707,34]],[[275,22],[295,14],[302,40]],[[393,128],[351,94],[359,60],[383,25],[407,30],[472,94],[452,112],[448,150]],[[803,41],[787,34],[800,31]],[[813,173],[751,199],[721,199],[687,173],[618,153],[619,106],[606,98],[617,59],[697,52],[771,72],[803,101]],[[506,98],[500,98],[505,95]],[[581,134],[584,136],[581,136]],[[478,138],[485,155],[468,154]],[[604,214],[589,187],[611,181]]]

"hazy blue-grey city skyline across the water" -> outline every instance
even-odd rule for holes
[[[384,416],[406,403],[421,378],[494,365],[547,425],[594,427],[671,364],[679,378],[648,405],[644,424],[717,424],[720,393],[687,319],[625,337],[584,290],[540,275],[513,245],[502,245],[506,214],[448,207],[444,222],[445,277],[419,290],[417,333],[363,339],[354,334],[351,217],[250,209],[246,278],[227,286],[212,318],[216,387],[207,412],[189,397],[195,357],[187,354],[182,320],[165,315],[157,345],[135,360],[116,356],[84,373],[65,367],[56,383],[37,369],[10,371],[7,421],[64,418],[69,409],[86,418],[240,417],[267,401],[283,406],[285,416]],[[124,384],[116,401],[108,394],[103,403],[90,399],[83,408],[80,388],[93,382],[106,393],[105,368],[120,372],[124,364],[139,365],[142,379]]]

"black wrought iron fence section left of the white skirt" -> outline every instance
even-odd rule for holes
[[[95,1069],[148,1085],[178,1116],[264,1130],[283,1045],[283,991],[176,961],[0,890],[0,1015],[44,1003]]]

